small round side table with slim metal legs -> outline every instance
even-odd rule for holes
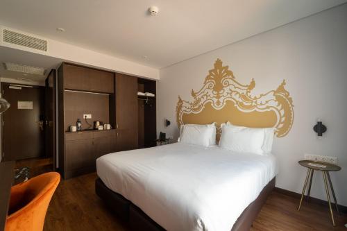
[[[308,187],[308,191],[307,191],[307,202],[310,200],[310,191],[311,191],[311,185],[312,185],[312,178],[313,178],[314,170],[321,171],[323,173],[325,192],[326,192],[326,196],[328,198],[328,204],[329,204],[330,215],[331,215],[331,219],[332,219],[332,225],[335,226],[334,214],[332,213],[332,207],[331,207],[331,203],[330,203],[330,193],[329,193],[329,188],[328,188],[328,182],[329,182],[329,185],[330,185],[330,189],[331,189],[331,192],[332,192],[332,197],[334,198],[335,207],[336,207],[336,210],[337,210],[338,214],[339,214],[339,207],[337,205],[335,191],[334,191],[334,188],[332,187],[332,182],[330,180],[329,172],[330,171],[340,171],[341,167],[337,166],[335,164],[330,164],[330,163],[325,163],[325,162],[317,162],[317,161],[314,161],[314,160],[301,160],[298,163],[301,166],[304,166],[304,167],[307,168],[307,176],[306,176],[305,184],[304,184],[304,187],[303,187],[303,193],[301,194],[301,200],[300,200],[300,204],[299,204],[298,210],[300,211],[301,203],[303,203],[303,197],[305,195],[307,182],[309,180],[310,180],[310,183],[309,183],[309,187]],[[327,178],[328,178],[328,180],[327,180]]]

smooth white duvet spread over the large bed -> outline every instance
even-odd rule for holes
[[[103,155],[96,169],[166,230],[230,231],[276,176],[276,160],[176,143]]]

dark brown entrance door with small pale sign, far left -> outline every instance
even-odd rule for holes
[[[10,89],[9,86],[9,83],[1,83],[3,96],[11,104],[11,107],[3,113],[4,160],[42,157],[44,156],[44,87]],[[32,101],[33,109],[18,109],[18,101]]]

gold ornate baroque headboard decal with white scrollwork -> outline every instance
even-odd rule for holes
[[[249,85],[239,83],[228,66],[221,60],[214,62],[203,87],[194,92],[192,101],[178,96],[176,119],[178,128],[185,123],[217,123],[217,140],[220,125],[230,121],[234,125],[253,128],[276,128],[277,137],[287,135],[294,121],[293,101],[285,89],[285,80],[276,90],[252,96],[254,79]]]

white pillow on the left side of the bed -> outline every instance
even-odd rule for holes
[[[214,123],[185,124],[180,127],[180,137],[178,142],[185,144],[196,144],[201,146],[212,146],[216,144],[216,126]]]

